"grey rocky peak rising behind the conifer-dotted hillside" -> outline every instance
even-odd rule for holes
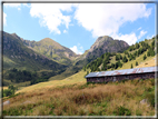
[[[86,50],[83,54],[79,56],[75,60],[73,66],[69,67],[65,72],[55,76],[55,78],[51,79],[63,79],[69,77],[81,70],[86,65],[97,59],[101,54],[106,52],[122,52],[127,48],[129,48],[129,44],[122,40],[113,40],[108,36],[99,37],[89,50]]]

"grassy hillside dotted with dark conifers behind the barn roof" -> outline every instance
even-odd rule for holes
[[[155,38],[130,46],[122,53],[107,52],[83,69],[91,71],[130,69],[155,57]]]

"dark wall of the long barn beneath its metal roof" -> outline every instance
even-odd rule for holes
[[[135,73],[135,75],[121,75],[121,76],[107,76],[107,77],[93,77],[87,78],[87,82],[109,82],[109,81],[121,81],[125,79],[151,79],[155,78],[155,72],[148,73]]]

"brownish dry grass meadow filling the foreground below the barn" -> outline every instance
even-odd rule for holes
[[[10,98],[10,105],[4,106],[6,115],[29,116],[111,116],[122,106],[136,116],[137,110],[142,116],[155,115],[155,108],[141,105],[144,93],[152,88],[151,80],[129,80],[108,85],[70,85],[51,87],[45,90],[26,92]],[[6,101],[8,99],[4,99]],[[23,103],[27,102],[28,103]],[[23,103],[23,105],[22,105]]]

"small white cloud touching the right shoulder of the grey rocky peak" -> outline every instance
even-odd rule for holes
[[[115,39],[124,40],[126,41],[129,46],[136,43],[138,40],[136,37],[136,33],[131,32],[130,34],[118,34],[113,36]]]

